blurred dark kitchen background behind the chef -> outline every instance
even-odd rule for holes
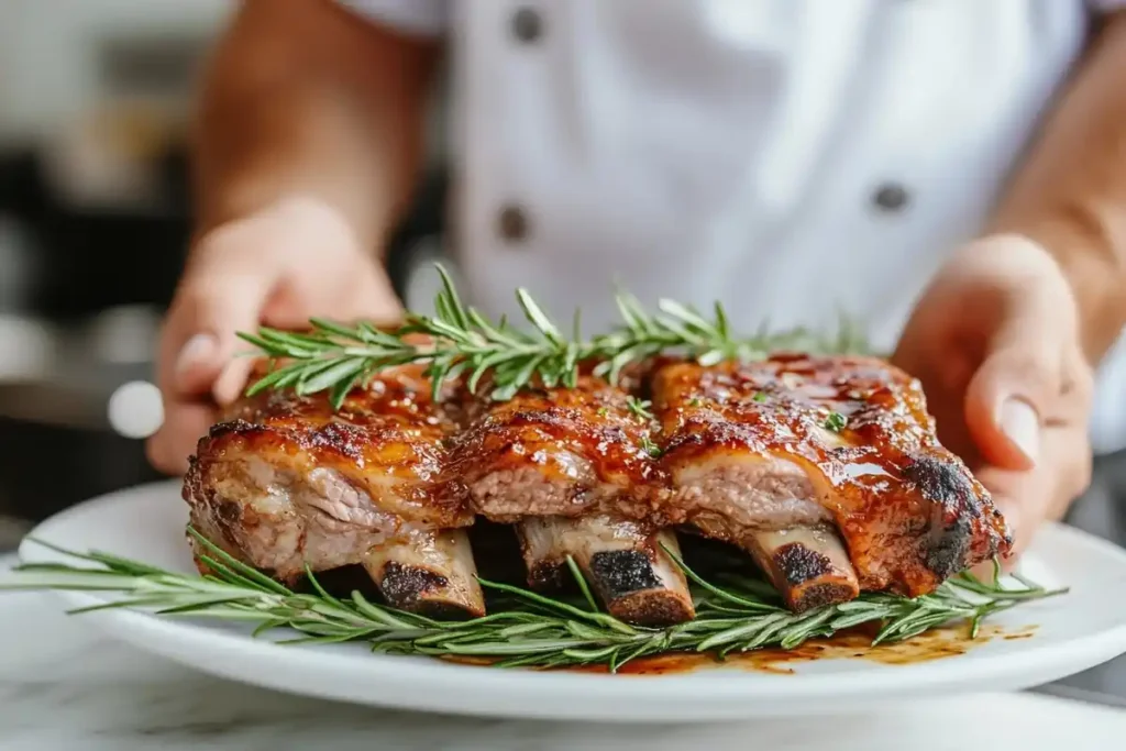
[[[154,347],[190,225],[186,114],[232,5],[0,0],[0,553],[55,511],[159,479],[140,437],[160,420]],[[443,101],[388,249],[409,304],[430,298],[410,269],[440,248]],[[1100,459],[1071,521],[1126,543],[1124,517],[1126,455]],[[1067,682],[1126,697],[1126,661]]]

